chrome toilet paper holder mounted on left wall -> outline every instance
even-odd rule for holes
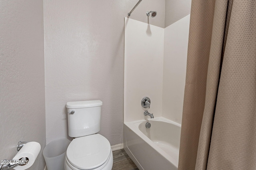
[[[17,144],[17,150],[19,151],[26,143],[28,142],[22,142],[19,141]],[[10,170],[12,168],[15,168],[18,165],[25,165],[28,163],[28,158],[27,157],[23,157],[20,158],[19,160],[1,160],[0,162],[0,170]]]

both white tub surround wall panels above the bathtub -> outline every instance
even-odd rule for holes
[[[147,119],[148,110],[181,123],[189,19],[161,28],[125,18],[124,122]],[[150,109],[141,106],[144,97]]]

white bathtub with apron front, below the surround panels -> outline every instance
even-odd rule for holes
[[[124,150],[140,170],[177,170],[180,129],[164,117],[124,123]]]

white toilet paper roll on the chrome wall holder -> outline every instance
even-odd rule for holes
[[[28,161],[25,165],[22,166],[16,166],[15,170],[26,170],[30,166],[32,166],[36,160],[36,157],[38,156],[39,152],[41,150],[40,143],[37,142],[29,142],[26,143],[22,149],[14,156],[13,160],[19,160],[20,158],[26,157],[28,158]]]

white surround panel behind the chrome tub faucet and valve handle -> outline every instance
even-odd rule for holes
[[[124,122],[162,115],[164,29],[125,18]],[[150,109],[141,106],[149,97]]]

